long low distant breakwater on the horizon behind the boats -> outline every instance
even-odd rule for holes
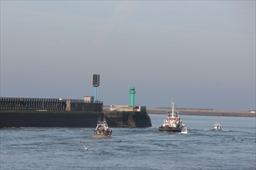
[[[255,117],[251,111],[226,111],[213,109],[176,109],[180,115]],[[171,108],[147,108],[147,114],[167,114]]]

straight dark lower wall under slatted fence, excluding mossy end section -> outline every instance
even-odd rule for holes
[[[101,112],[5,110],[0,113],[0,128],[94,128],[102,115]]]

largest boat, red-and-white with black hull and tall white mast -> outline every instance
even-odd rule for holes
[[[182,124],[178,111],[175,111],[175,102],[172,101],[171,104],[171,114],[168,112],[168,117],[166,119],[164,118],[164,123],[158,128],[158,131],[182,132],[182,128],[185,128],[185,124]]]

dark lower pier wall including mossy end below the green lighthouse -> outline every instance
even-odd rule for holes
[[[109,127],[151,127],[147,112],[1,110],[0,128],[95,128],[98,118],[104,114]]]

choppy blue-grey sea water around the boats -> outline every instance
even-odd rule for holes
[[[189,134],[179,134],[157,131],[164,116],[150,114],[152,128],[111,128],[107,139],[94,128],[4,128],[0,169],[255,169],[255,117],[184,115]]]

